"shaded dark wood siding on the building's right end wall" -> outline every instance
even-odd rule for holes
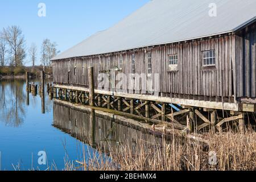
[[[236,36],[237,97],[256,97],[256,23]]]

